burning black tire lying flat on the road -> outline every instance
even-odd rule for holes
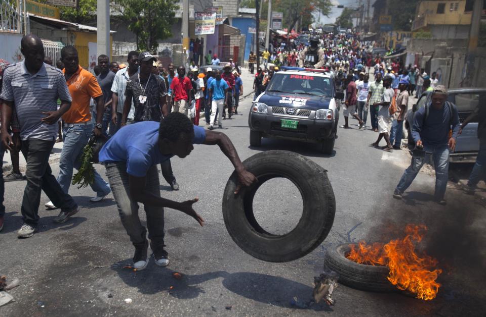
[[[397,288],[388,281],[387,267],[362,265],[346,258],[349,244],[328,249],[325,264],[339,275],[339,283],[363,291],[394,292]]]

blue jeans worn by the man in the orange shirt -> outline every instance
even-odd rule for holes
[[[61,159],[59,161],[59,176],[57,181],[61,185],[62,190],[67,194],[72,180],[73,168],[79,169],[81,166],[81,156],[83,149],[88,144],[90,136],[93,133],[93,124],[79,125],[69,127],[69,124],[64,124],[62,135],[64,137],[64,144],[61,151]],[[105,182],[100,174],[95,171],[95,181],[91,185],[93,191],[98,196],[106,196],[110,193],[110,186]]]

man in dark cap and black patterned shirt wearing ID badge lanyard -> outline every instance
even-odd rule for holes
[[[156,61],[155,57],[148,51],[145,51],[140,53],[138,61],[140,65],[139,72],[127,81],[121,119],[122,127],[127,125],[127,118],[132,108],[132,103],[135,108],[134,123],[142,121],[160,122],[164,116],[169,114],[166,81],[152,74],[153,62]],[[141,142],[143,141],[141,140]],[[179,184],[177,184],[172,172],[171,161],[162,162],[160,170],[172,190],[179,190]]]

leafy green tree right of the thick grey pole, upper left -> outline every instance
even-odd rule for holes
[[[118,0],[123,11],[123,19],[129,23],[128,29],[137,36],[137,49],[155,53],[157,39],[172,35],[175,0]]]

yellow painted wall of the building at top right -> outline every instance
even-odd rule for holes
[[[437,13],[438,4],[445,4],[444,13]],[[457,11],[451,11],[457,4]],[[422,1],[417,9],[417,14],[426,19],[427,24],[450,24],[450,25],[468,25],[471,24],[471,13],[464,13],[466,0],[455,1]]]

